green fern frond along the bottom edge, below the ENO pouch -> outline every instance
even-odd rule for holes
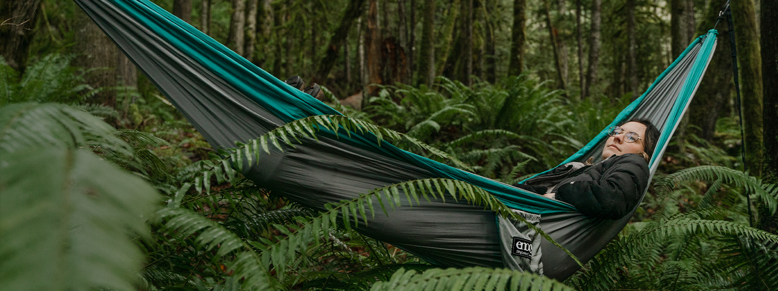
[[[380,290],[573,290],[554,279],[503,268],[433,268],[418,273],[400,269],[388,282],[377,282]]]

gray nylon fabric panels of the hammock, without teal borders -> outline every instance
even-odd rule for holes
[[[271,113],[272,109],[259,106],[110,1],[75,2],[213,147],[234,147],[236,141],[253,140],[283,124]],[[678,64],[647,95],[633,116],[649,117],[661,128],[674,102],[668,95],[677,94],[695,56],[696,51],[686,57],[689,60]],[[589,156],[598,155],[593,151]],[[323,210],[324,203],[353,199],[359,193],[386,185],[433,178],[429,171],[415,165],[326,137],[319,141],[303,140],[303,144],[287,147],[284,152],[265,154],[244,175],[316,210]],[[375,209],[380,210],[380,206]],[[557,213],[541,217],[539,225],[582,262],[587,262],[619,233],[631,216],[632,213],[622,220],[601,220],[580,213]],[[359,231],[437,265],[504,265],[494,214],[463,202],[422,201],[420,206],[399,207],[388,216],[379,212]],[[538,264],[542,263],[544,275],[562,280],[579,268],[548,241],[542,240],[540,248],[543,255]]]

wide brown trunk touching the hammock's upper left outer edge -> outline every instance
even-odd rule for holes
[[[108,36],[100,30],[84,12],[75,13],[75,45],[73,52],[78,54],[74,64],[85,69],[96,69],[86,74],[86,83],[93,88],[114,87],[117,85],[118,49]],[[116,90],[103,90],[97,93],[89,103],[116,106]]]

